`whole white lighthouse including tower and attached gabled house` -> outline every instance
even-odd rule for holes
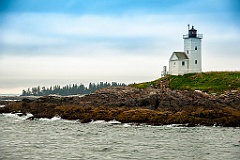
[[[202,37],[193,26],[188,26],[188,34],[183,35],[184,52],[173,52],[169,59],[170,75],[202,72]]]

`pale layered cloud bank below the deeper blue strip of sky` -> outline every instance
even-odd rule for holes
[[[0,16],[2,93],[36,85],[154,80],[171,53],[183,51],[188,23],[203,33],[204,71],[240,68],[239,27],[225,13]]]

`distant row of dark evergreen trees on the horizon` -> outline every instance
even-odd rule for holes
[[[88,87],[85,87],[83,84],[72,84],[66,86],[50,86],[50,87],[32,87],[27,90],[22,91],[22,96],[47,96],[51,94],[68,96],[68,95],[84,95],[95,92],[97,89],[106,88],[113,86],[126,86],[124,83],[112,82],[111,84],[106,82],[100,83],[89,83]]]

